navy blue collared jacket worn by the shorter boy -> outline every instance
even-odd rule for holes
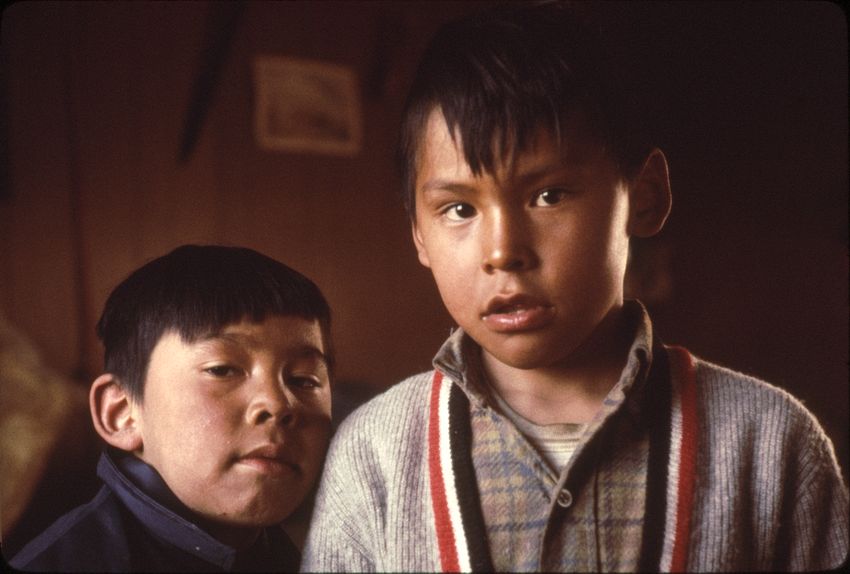
[[[104,453],[104,486],[59,518],[10,561],[19,570],[60,572],[297,572],[299,552],[282,529],[263,530],[237,552],[192,523],[153,467]]]

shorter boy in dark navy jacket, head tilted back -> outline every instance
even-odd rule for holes
[[[280,523],[330,436],[330,312],[316,285],[250,249],[183,246],[118,285],[97,330],[104,486],[11,565],[296,571]]]

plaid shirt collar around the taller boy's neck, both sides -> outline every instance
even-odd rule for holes
[[[617,384],[612,387],[605,402],[625,402],[627,411],[640,417],[644,382],[652,364],[652,322],[646,308],[637,300],[628,300],[623,306],[626,324],[634,332],[626,366]],[[449,377],[466,393],[476,406],[492,404],[490,386],[484,378],[481,347],[458,328],[443,343],[433,361],[434,368]]]

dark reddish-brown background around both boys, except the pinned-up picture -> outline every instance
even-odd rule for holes
[[[339,414],[427,369],[452,322],[396,196],[395,130],[427,39],[486,4],[7,7],[0,310],[85,388],[101,362],[94,323],[118,281],[182,243],[242,244],[328,296]],[[581,8],[619,35],[671,166],[673,211],[659,237],[635,246],[630,289],[665,341],[799,397],[846,476],[845,14],[818,2]],[[362,151],[259,149],[251,64],[260,54],[351,67]],[[196,128],[189,149],[187,125]],[[4,554],[96,487],[97,443],[84,411],[76,421],[61,430],[28,511],[2,524]]]

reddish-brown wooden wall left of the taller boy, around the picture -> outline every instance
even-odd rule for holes
[[[12,185],[2,203],[3,307],[57,366],[91,375],[101,361],[92,327],[127,273],[186,242],[247,245],[325,291],[343,377],[386,386],[425,369],[449,321],[415,260],[392,153],[410,53],[458,8],[248,4],[181,163],[203,48],[227,9],[38,3],[4,13]],[[397,44],[379,52],[387,39]],[[362,152],[261,151],[252,133],[257,54],[352,67]]]

